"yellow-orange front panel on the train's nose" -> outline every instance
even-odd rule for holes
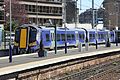
[[[20,48],[26,48],[27,44],[27,29],[21,29]]]

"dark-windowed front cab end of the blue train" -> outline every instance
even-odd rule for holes
[[[14,53],[34,52],[40,44],[41,30],[33,25],[22,25],[15,29]]]

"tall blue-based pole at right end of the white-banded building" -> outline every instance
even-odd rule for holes
[[[67,31],[66,31],[66,0],[62,0],[62,7],[63,7],[63,24],[65,28],[65,54],[67,53]]]

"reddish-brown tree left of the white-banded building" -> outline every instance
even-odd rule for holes
[[[27,12],[25,5],[20,4],[19,0],[11,0],[12,7],[12,31],[15,27],[25,24],[28,22]],[[5,14],[6,14],[6,26],[5,29],[9,30],[9,12],[10,12],[10,0],[4,0],[5,3]],[[17,25],[17,26],[16,26]]]

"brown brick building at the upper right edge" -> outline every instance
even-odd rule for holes
[[[120,0],[104,0],[104,27],[107,29],[120,28]]]

